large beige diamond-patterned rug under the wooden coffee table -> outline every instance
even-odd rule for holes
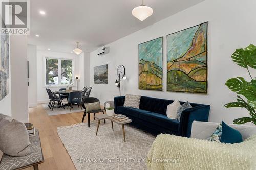
[[[139,170],[147,169],[146,156],[155,140],[151,134],[125,125],[126,142],[122,128],[102,121],[95,136],[97,123],[89,128],[86,123],[58,127],[58,135],[68,151],[76,169]]]

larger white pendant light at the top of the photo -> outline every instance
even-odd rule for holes
[[[143,5],[143,0],[141,0],[141,6],[134,8],[132,11],[132,14],[137,19],[143,21],[153,14],[153,9],[148,6]]]

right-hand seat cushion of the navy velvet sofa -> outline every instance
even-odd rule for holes
[[[158,126],[164,127],[175,132],[179,131],[179,121],[175,119],[170,119],[166,115],[154,112],[141,112],[139,114],[139,118],[146,122],[156,124]]]

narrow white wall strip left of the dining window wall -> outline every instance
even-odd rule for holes
[[[28,45],[29,61],[29,86],[28,86],[28,104],[29,107],[37,106],[37,69],[36,69],[36,46]]]

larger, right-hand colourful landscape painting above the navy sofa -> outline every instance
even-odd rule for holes
[[[167,91],[207,94],[207,22],[167,35]]]

